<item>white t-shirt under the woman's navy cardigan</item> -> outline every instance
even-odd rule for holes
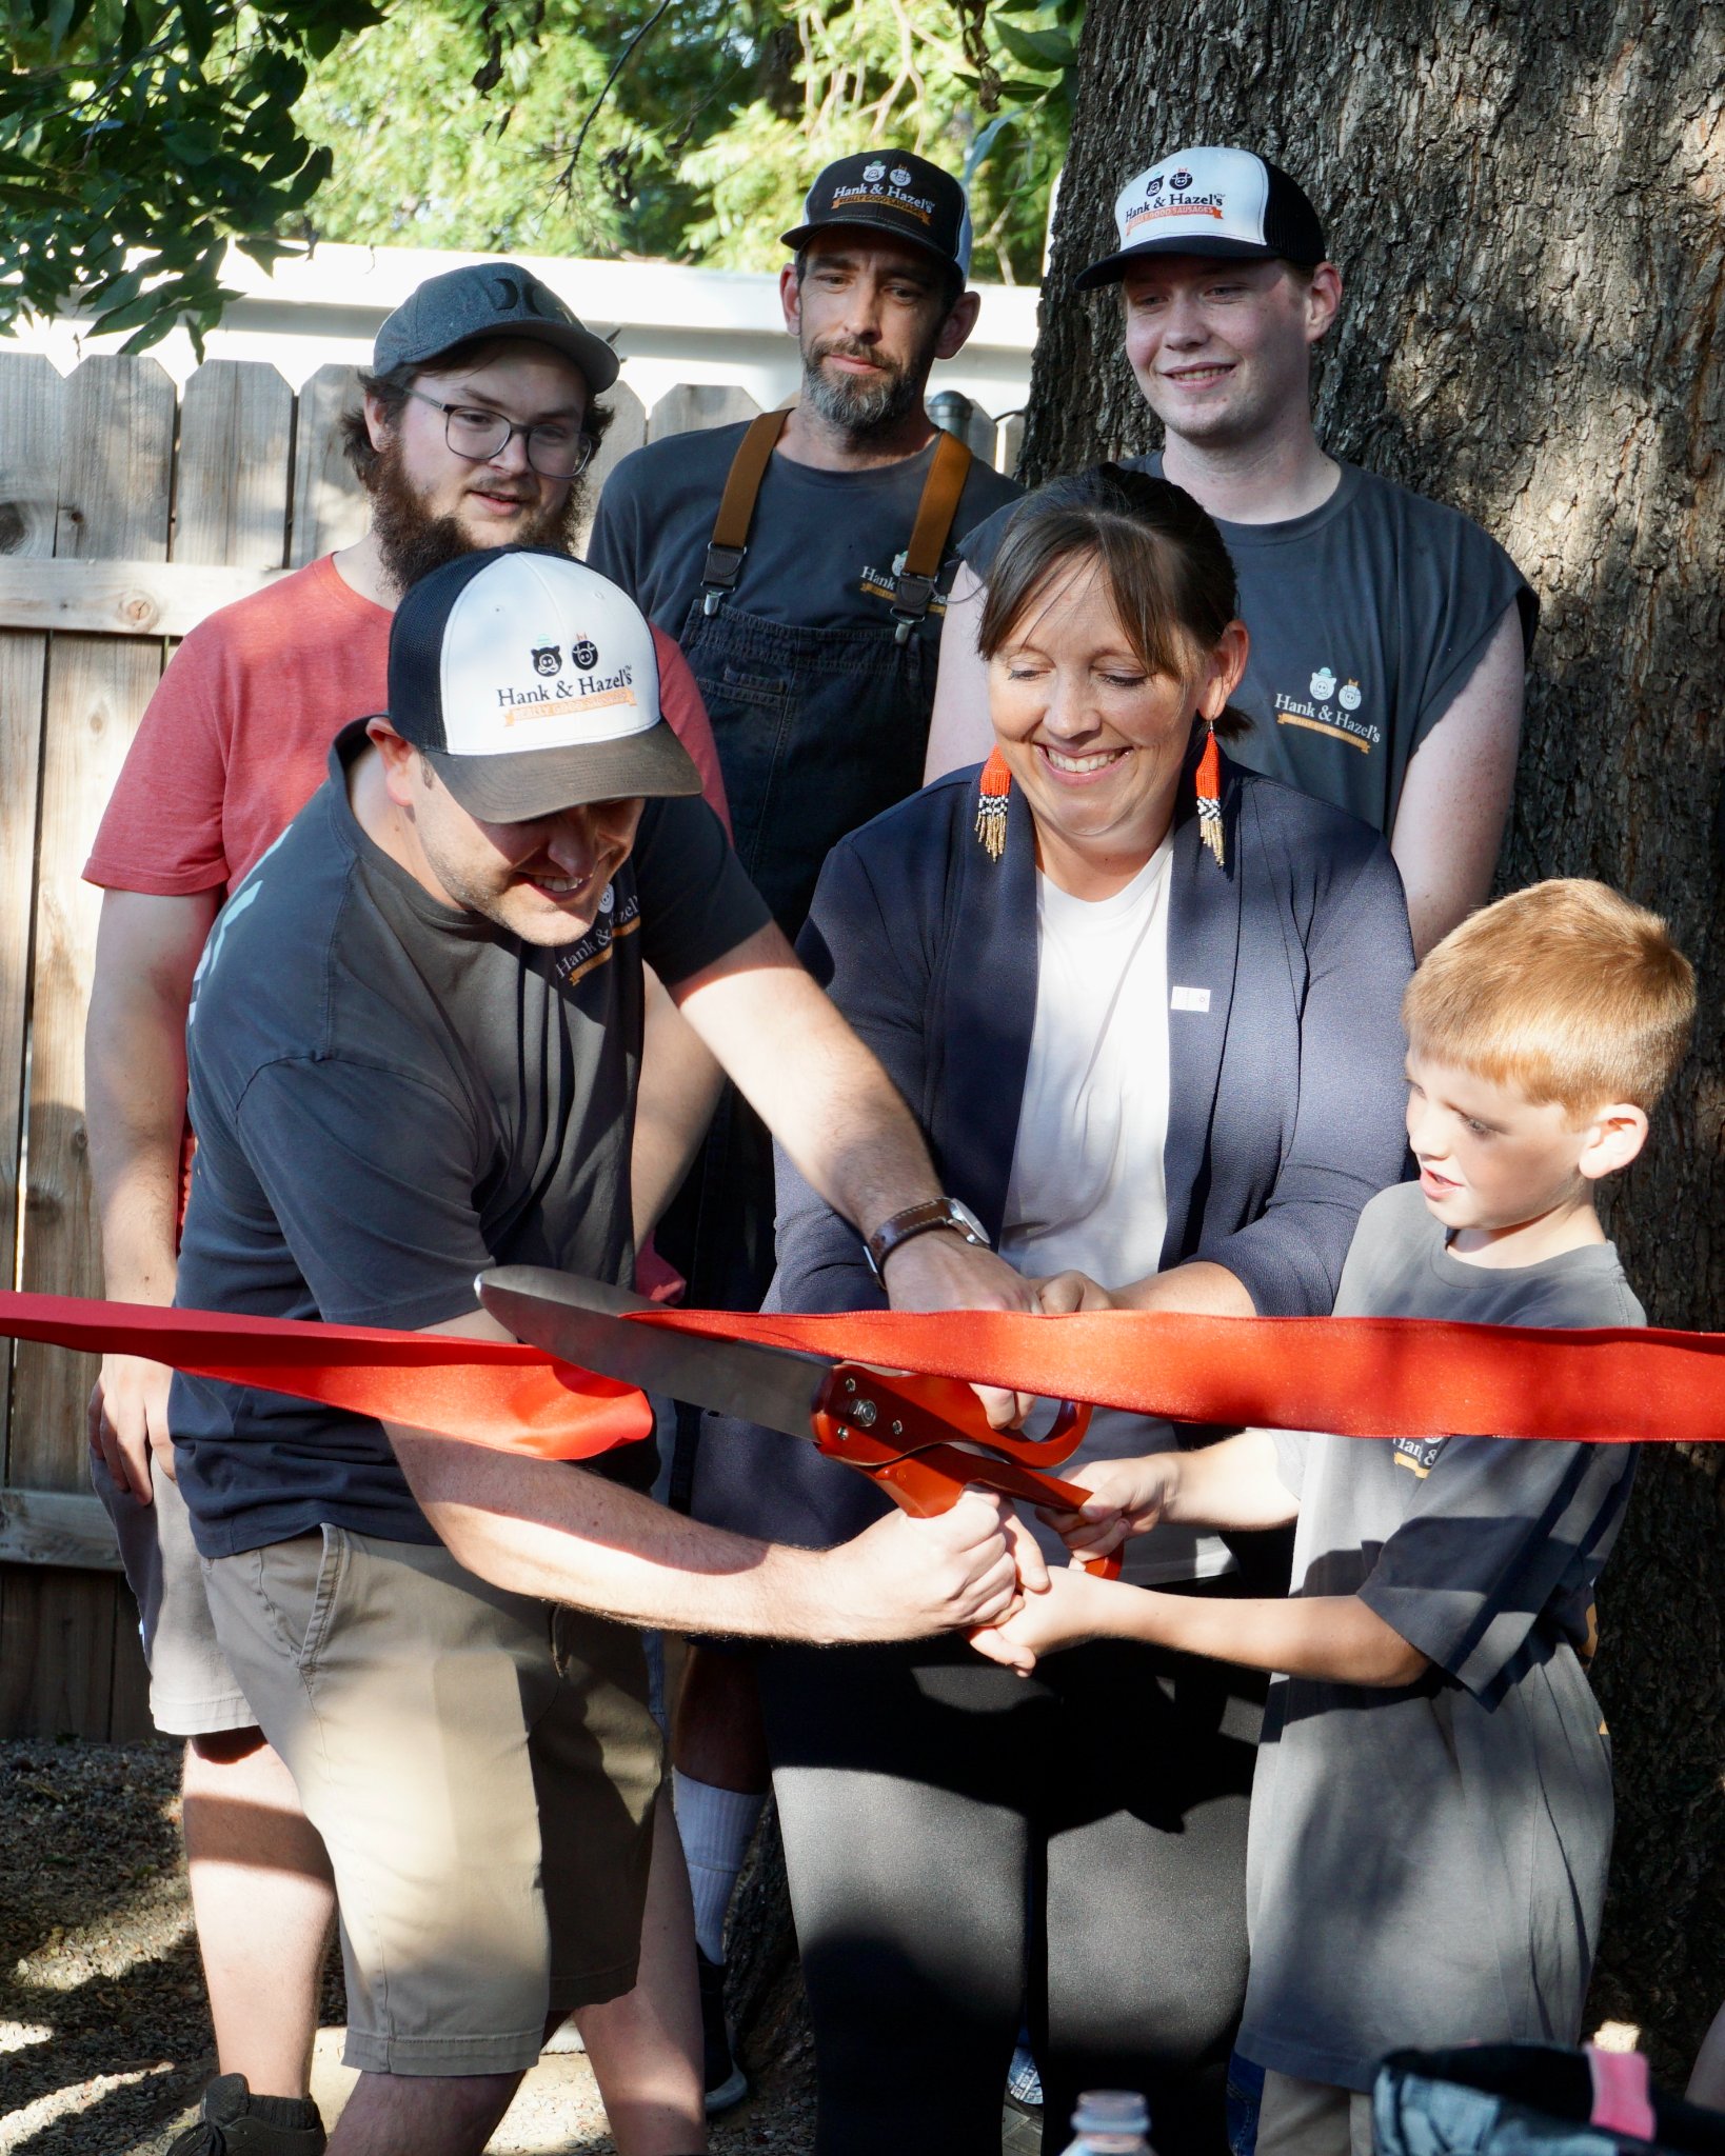
[[[1171,860],[1164,839],[1110,899],[1074,899],[1037,877],[1037,1015],[1000,1227],[1000,1257],[1018,1272],[1076,1270],[1121,1287],[1162,1263]],[[1169,1423],[1098,1408],[1067,1466],[1173,1442]],[[1059,1554],[1059,1537],[1031,1524]],[[1126,1550],[1126,1578],[1141,1587],[1231,1565],[1227,1544],[1179,1526],[1158,1526]]]

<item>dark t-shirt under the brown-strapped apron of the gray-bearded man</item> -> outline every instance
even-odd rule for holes
[[[649,442],[623,457],[599,496],[586,561],[681,636],[701,593],[718,498],[744,427],[707,427]],[[826,472],[772,455],[755,500],[748,556],[733,604],[800,630],[891,630],[893,563],[910,545],[936,444],[865,472]],[[960,494],[940,593],[919,634],[940,634],[957,541],[1024,489],[979,457]]]

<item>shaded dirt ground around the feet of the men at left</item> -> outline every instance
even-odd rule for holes
[[[343,2018],[332,1966],[323,2018]],[[347,2076],[319,2037],[326,2119]],[[179,1746],[0,1744],[0,2156],[162,2156],[213,2072],[185,1865]],[[714,2130],[716,2156],[798,2156],[806,2059]],[[608,2156],[580,2055],[552,2055],[498,2128],[496,2156]]]

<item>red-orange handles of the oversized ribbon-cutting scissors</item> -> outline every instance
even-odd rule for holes
[[[949,1395],[968,1399],[964,1427],[944,1421],[925,1406],[927,1393],[934,1391],[940,1393],[942,1404]],[[1065,1460],[1091,1416],[1087,1406],[1074,1401],[1063,1404],[1061,1412],[1067,1414],[1067,1427],[1076,1427],[1076,1436],[1057,1455],[1059,1460]],[[977,1432],[977,1423],[981,1432]],[[1005,1432],[990,1427],[977,1395],[953,1378],[884,1380],[880,1371],[865,1365],[839,1363],[815,1404],[813,1427],[815,1442],[828,1460],[843,1460],[845,1466],[880,1483],[897,1505],[923,1520],[951,1511],[966,1488],[994,1490],[1018,1503],[1052,1511],[1076,1511],[1089,1498],[1089,1490],[1024,1466],[1022,1449],[1031,1449],[1031,1457],[1041,1460],[1048,1453],[1037,1447],[1035,1438],[1018,1438],[1011,1440],[1011,1449],[1003,1447]],[[1063,1436],[1065,1432],[1061,1432]],[[1110,1550],[1108,1557],[1085,1559],[1082,1570],[1115,1580],[1119,1578],[1119,1552]]]

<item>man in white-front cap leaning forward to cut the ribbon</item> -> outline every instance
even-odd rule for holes
[[[699,800],[640,612],[550,550],[453,561],[209,940],[177,1300],[496,1337],[489,1266],[627,1281],[645,966],[860,1231],[938,1199]],[[949,1233],[888,1289],[1026,1302]],[[218,1639],[336,1874],[332,2156],[477,2156],[546,2022],[634,1986],[660,1744],[630,1626],[916,1636],[1018,1591],[979,1496],[802,1552],[653,1505],[651,1447],[582,1470],[185,1378],[170,1423]],[[684,2102],[612,2132],[692,2143]]]

